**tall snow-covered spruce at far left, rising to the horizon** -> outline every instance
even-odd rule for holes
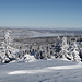
[[[2,50],[1,50],[1,62],[2,63],[8,63],[11,60],[13,60],[15,57],[12,52],[14,52],[14,48],[11,47],[12,45],[12,38],[10,36],[9,30],[4,33],[4,40],[2,42]]]

